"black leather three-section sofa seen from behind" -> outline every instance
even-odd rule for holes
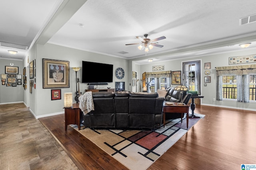
[[[165,98],[158,93],[93,92],[94,111],[83,114],[84,126],[109,129],[158,129]]]

